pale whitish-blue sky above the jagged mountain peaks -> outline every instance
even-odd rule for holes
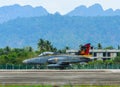
[[[80,5],[89,7],[95,3],[101,4],[104,10],[120,9],[120,0],[0,0],[0,7],[13,4],[42,6],[50,13],[66,14]]]

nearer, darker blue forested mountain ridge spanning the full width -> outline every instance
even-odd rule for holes
[[[17,18],[0,24],[0,47],[37,47],[40,38],[57,48],[92,43],[103,46],[120,44],[120,16],[80,17],[59,13],[32,18]]]

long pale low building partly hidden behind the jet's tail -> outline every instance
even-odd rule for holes
[[[75,55],[78,50],[66,50],[67,54]],[[90,54],[92,55],[93,59],[95,60],[106,60],[115,58],[120,53],[120,50],[116,49],[92,49],[90,50]]]

